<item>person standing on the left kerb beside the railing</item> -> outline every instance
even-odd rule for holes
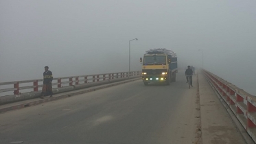
[[[51,86],[51,82],[53,80],[53,76],[51,71],[49,71],[49,67],[45,66],[45,72],[43,73],[43,88],[42,88],[42,93],[40,98],[43,99],[44,96],[50,95],[50,97],[52,97],[52,95],[54,95],[54,93],[52,93],[52,86]]]

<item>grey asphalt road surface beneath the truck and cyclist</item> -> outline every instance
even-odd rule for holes
[[[141,80],[0,114],[1,143],[193,143],[196,77],[170,86]]]

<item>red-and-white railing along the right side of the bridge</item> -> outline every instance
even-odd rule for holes
[[[209,71],[204,72],[209,82],[213,84],[244,129],[256,142],[256,97]]]

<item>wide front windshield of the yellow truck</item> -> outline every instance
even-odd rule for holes
[[[143,65],[166,64],[166,56],[144,56]]]

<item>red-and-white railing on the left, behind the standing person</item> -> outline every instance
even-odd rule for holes
[[[71,77],[56,77],[52,82],[53,87],[62,86],[73,86],[78,84],[86,84],[91,82],[101,82],[105,80],[113,80],[122,77],[131,77],[135,75],[141,75],[141,71],[131,71],[129,72],[119,72],[119,73],[104,73],[97,75],[79,75]],[[14,81],[14,82],[1,82],[0,83],[0,96],[3,93],[10,93],[13,91],[14,95],[20,95],[21,90],[26,92],[29,91],[40,91],[39,88],[43,87],[43,80],[24,80],[24,81]]]

